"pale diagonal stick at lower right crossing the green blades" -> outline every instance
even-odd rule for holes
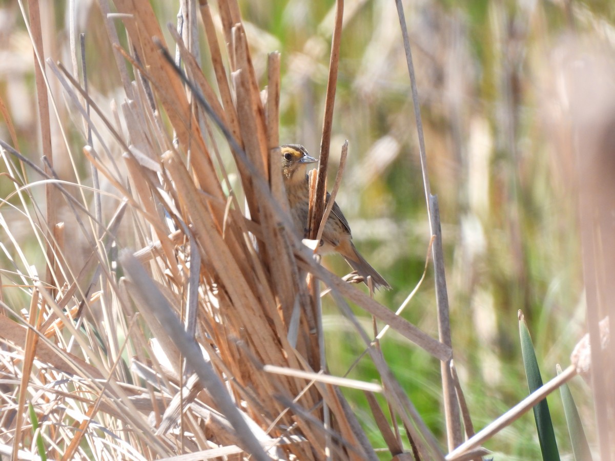
[[[571,380],[574,376],[576,376],[576,369],[573,365],[570,365],[560,375],[554,377],[554,379],[547,382],[547,384],[536,389],[533,393],[528,395],[509,411],[488,424],[485,428],[483,428],[483,430],[478,431],[474,437],[470,438],[451,451],[448,455],[446,455],[446,461],[456,461],[461,459],[461,456],[467,451],[478,447],[480,444],[507,427],[507,425],[515,422],[515,420],[522,417],[526,412],[530,411],[530,409],[546,398],[547,395],[554,392],[555,389]]]

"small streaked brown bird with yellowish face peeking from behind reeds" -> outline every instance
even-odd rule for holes
[[[308,165],[318,162],[312,157],[306,148],[300,144],[284,144],[280,146],[282,152],[282,178],[290,205],[295,230],[301,238],[308,234],[308,210],[309,210],[309,179],[307,174]],[[330,194],[327,192],[327,202]],[[357,271],[367,284],[370,276],[374,288],[391,289],[391,285],[361,256],[354,243],[350,225],[342,210],[336,202],[333,203],[331,213],[325,223],[322,232],[319,253],[335,251],[341,254],[352,269]]]

